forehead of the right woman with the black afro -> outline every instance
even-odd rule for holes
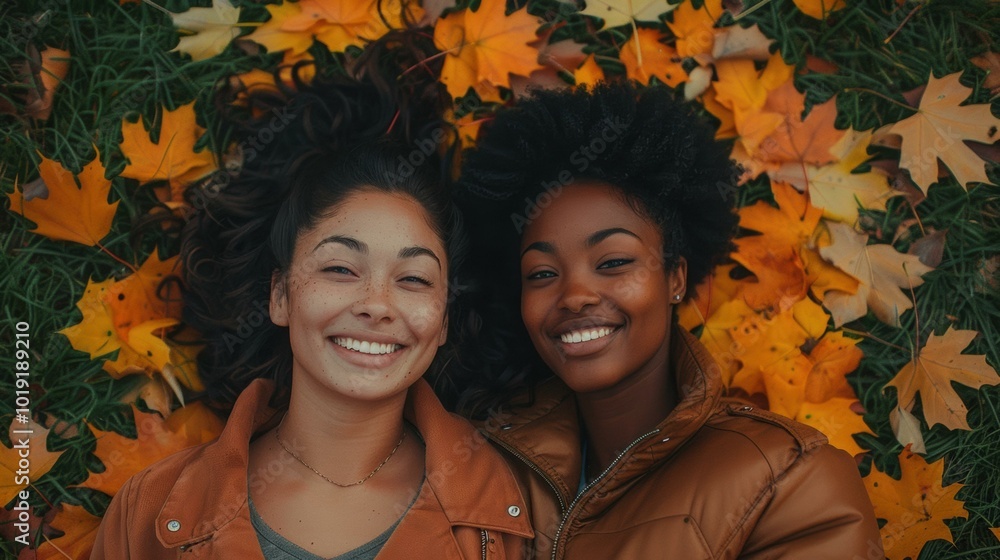
[[[548,194],[548,204],[536,197],[536,218],[524,229],[522,248],[535,241],[572,242],[595,231],[625,228],[644,241],[658,242],[659,228],[638,214],[621,189],[600,181],[576,181]]]

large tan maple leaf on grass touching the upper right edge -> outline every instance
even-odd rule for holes
[[[902,138],[900,167],[910,172],[924,193],[938,179],[938,159],[963,187],[989,183],[986,162],[966,141],[992,144],[1000,139],[1000,119],[988,103],[960,105],[972,90],[959,82],[961,72],[928,78],[917,113],[880,129]],[[883,132],[884,131],[884,132]]]

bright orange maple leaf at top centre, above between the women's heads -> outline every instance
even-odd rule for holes
[[[479,11],[464,9],[438,21],[434,44],[444,51],[441,81],[454,98],[482,82],[510,88],[510,74],[527,76],[542,68],[531,46],[540,22],[526,9],[510,15],[506,3],[483,2]]]

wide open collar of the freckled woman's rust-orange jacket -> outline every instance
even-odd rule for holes
[[[245,523],[233,525],[249,524],[250,441],[276,425],[284,412],[269,405],[273,392],[273,382],[253,381],[237,399],[219,438],[192,455],[156,519],[156,535],[164,546],[202,541],[241,518]],[[436,504],[422,508],[443,511],[453,525],[533,535],[526,515],[508,513],[509,506],[526,511],[510,468],[492,449],[482,447],[472,426],[444,409],[425,380],[410,387],[404,416],[426,446],[425,484]],[[180,529],[169,530],[171,522],[180,523]]]

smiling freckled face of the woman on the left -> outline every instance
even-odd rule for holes
[[[360,190],[301,232],[271,287],[292,383],[352,399],[404,392],[447,336],[448,263],[412,198]],[[308,386],[308,387],[304,387]]]

